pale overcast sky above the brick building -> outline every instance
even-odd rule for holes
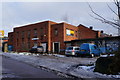
[[[116,9],[112,2],[89,2],[92,8],[107,19],[116,18],[107,4]],[[0,29],[5,30],[5,35],[13,31],[14,27],[32,24],[45,20],[55,22],[65,21],[78,26],[83,24],[93,26],[94,30],[103,30],[108,34],[117,34],[117,30],[110,25],[103,24],[90,16],[87,2],[2,2],[0,3]]]

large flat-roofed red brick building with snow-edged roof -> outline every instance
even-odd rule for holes
[[[65,49],[65,41],[98,38],[100,32],[83,25],[44,21],[16,27],[13,32],[8,33],[8,37],[8,45],[12,45],[14,51],[28,51],[35,45],[42,45],[45,52],[58,53]]]

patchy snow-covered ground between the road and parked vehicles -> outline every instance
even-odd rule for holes
[[[120,75],[104,75],[93,72],[94,65],[87,65],[93,64],[96,61],[94,58],[73,58],[57,54],[31,55],[30,53],[3,53],[2,55],[78,78],[120,78]]]

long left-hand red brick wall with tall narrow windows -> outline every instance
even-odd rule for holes
[[[30,47],[32,47],[34,45],[34,41],[32,40],[32,38],[34,37],[34,29],[37,29],[37,38],[39,38],[39,40],[36,40],[36,42],[38,43],[38,45],[40,45],[41,42],[49,42],[49,38],[50,35],[49,34],[49,26],[51,24],[54,24],[54,22],[49,22],[49,21],[45,21],[45,22],[41,22],[41,23],[36,23],[36,24],[31,24],[31,25],[26,25],[26,26],[22,26],[22,27],[18,27],[18,28],[14,28],[14,32],[15,32],[15,50],[21,50],[21,46],[23,44],[22,42],[22,32],[24,31],[24,47],[28,48],[28,31],[30,31]],[[40,29],[43,28],[43,33],[44,36],[41,39],[41,34],[40,34]],[[19,32],[19,34],[18,34]],[[18,41],[17,41],[17,37]],[[18,43],[17,43],[18,42]],[[19,44],[19,45],[17,45]]]

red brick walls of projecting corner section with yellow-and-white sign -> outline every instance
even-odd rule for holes
[[[59,24],[52,25],[51,29],[52,29],[52,31],[51,31],[51,35],[52,35],[51,47],[52,48],[53,48],[53,42],[60,42],[60,49],[65,49],[66,46],[65,46],[64,41],[78,39],[77,38],[78,32],[76,32],[78,30],[78,28],[76,26],[73,26],[73,25],[70,25],[67,23],[59,23]],[[57,36],[55,36],[55,29],[58,30]],[[74,36],[67,36],[66,29],[74,30],[74,32],[75,32]]]

